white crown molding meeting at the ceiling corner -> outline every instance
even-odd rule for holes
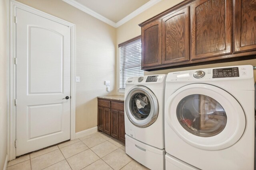
[[[79,2],[76,2],[75,0],[62,0],[72,6],[74,6],[75,8],[97,18],[98,20],[101,20],[109,25],[111,25],[112,27],[120,27],[121,25],[123,25],[124,23],[126,23],[127,21],[131,20],[132,18],[136,17],[137,15],[139,15],[140,13],[144,12],[145,10],[147,10],[148,8],[150,8],[151,6],[154,6],[155,4],[157,4],[158,2],[160,2],[161,0],[150,0],[148,1],[146,4],[144,4],[143,6],[141,6],[140,8],[138,8],[137,10],[135,10],[134,12],[132,12],[131,14],[129,14],[128,16],[124,17],[122,20],[118,21],[117,23],[109,20],[108,18],[98,14],[97,12],[95,12],[94,10],[91,10],[90,8],[80,4]]]

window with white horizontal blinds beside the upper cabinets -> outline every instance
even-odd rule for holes
[[[128,77],[144,76],[141,70],[141,36],[118,45],[120,51],[119,88],[124,89]]]

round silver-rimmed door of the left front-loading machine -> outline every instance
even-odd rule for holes
[[[158,116],[158,101],[145,86],[134,86],[127,93],[125,110],[128,119],[137,127],[148,127]]]

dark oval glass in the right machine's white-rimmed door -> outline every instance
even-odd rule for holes
[[[200,137],[219,134],[227,123],[223,107],[213,98],[202,94],[183,98],[177,106],[176,114],[186,131]]]

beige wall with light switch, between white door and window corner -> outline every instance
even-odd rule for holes
[[[18,1],[76,24],[76,132],[97,126],[97,96],[116,89],[116,29],[62,0]]]

